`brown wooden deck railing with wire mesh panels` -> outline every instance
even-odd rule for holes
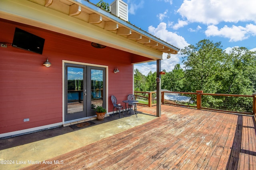
[[[156,92],[134,92],[136,100],[143,106],[156,105]],[[162,104],[224,111],[230,113],[256,114],[256,94],[209,94],[197,90],[191,92],[161,92]]]

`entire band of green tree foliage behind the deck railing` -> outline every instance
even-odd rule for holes
[[[256,52],[245,47],[222,50],[220,42],[208,39],[182,49],[184,69],[174,69],[161,76],[161,88],[176,92],[252,94],[256,92]],[[165,70],[163,70],[165,71]],[[156,72],[147,76],[134,72],[134,90],[156,90]],[[214,102],[214,100],[212,100]]]

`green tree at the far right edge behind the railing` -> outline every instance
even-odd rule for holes
[[[220,93],[248,94],[255,92],[256,52],[245,47],[233,48],[223,62]]]

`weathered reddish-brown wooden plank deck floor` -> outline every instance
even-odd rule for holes
[[[162,116],[26,169],[256,169],[253,117],[162,105]],[[156,107],[138,107],[155,114]],[[138,114],[140,116],[140,114]]]

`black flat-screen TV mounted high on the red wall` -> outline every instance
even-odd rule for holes
[[[12,47],[42,54],[44,49],[44,39],[16,27]]]

